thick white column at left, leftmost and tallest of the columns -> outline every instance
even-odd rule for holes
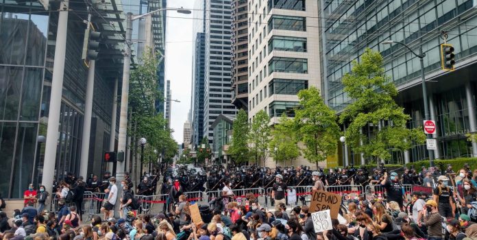
[[[51,80],[51,96],[47,128],[47,143],[45,145],[45,163],[41,182],[46,191],[52,193],[53,178],[55,177],[56,145],[58,143],[58,128],[60,125],[61,97],[63,91],[64,60],[66,55],[66,31],[68,28],[69,1],[60,2],[58,16],[58,32],[56,34],[55,58],[53,62],[53,77]]]

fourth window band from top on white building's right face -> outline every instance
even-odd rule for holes
[[[269,74],[277,73],[308,73],[308,60],[303,58],[271,58]]]

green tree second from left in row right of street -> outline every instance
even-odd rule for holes
[[[268,157],[268,143],[270,140],[270,117],[267,112],[260,110],[255,115],[249,131],[249,143],[252,143],[252,154],[255,157],[255,163]]]

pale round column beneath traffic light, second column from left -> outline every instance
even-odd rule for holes
[[[84,101],[83,134],[81,141],[81,161],[79,162],[79,176],[88,175],[89,141],[91,134],[91,117],[93,117],[93,93],[95,88],[95,60],[90,60],[88,82],[86,82],[86,99]]]

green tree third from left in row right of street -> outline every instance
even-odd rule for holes
[[[290,160],[290,165],[293,165],[293,160],[301,155],[296,130],[295,122],[285,114],[280,117],[280,123],[273,126],[269,149],[276,163],[286,164],[286,161]]]

